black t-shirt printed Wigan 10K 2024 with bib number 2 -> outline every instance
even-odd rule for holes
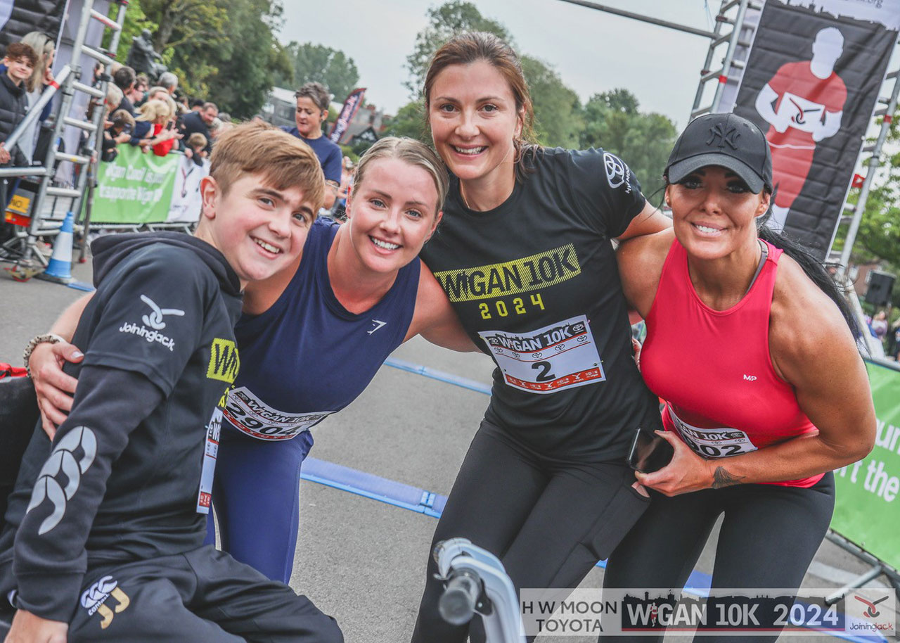
[[[486,419],[547,457],[615,460],[653,407],[610,243],[644,196],[602,149],[544,149],[534,168],[483,213],[454,179],[421,257],[498,366]]]

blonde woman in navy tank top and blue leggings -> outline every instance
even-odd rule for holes
[[[446,189],[446,170],[428,147],[379,140],[359,163],[348,222],[313,223],[302,255],[244,293],[235,329],[241,364],[211,495],[222,548],[269,578],[288,583],[293,571],[311,426],[352,402],[391,351],[417,334],[474,350],[436,278],[419,264]],[[53,331],[71,337],[85,303],[73,304]],[[64,393],[75,385],[58,360],[71,361],[74,350],[60,342],[32,353],[49,432],[65,417]],[[211,521],[207,542],[214,542]]]

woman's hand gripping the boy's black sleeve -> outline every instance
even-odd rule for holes
[[[38,396],[40,426],[49,439],[56,435],[57,427],[66,420],[72,410],[72,395],[78,380],[62,371],[66,362],[80,362],[85,356],[73,344],[60,341],[56,344],[45,342],[31,351],[28,367],[31,381]]]

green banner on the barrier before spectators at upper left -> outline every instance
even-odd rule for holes
[[[91,224],[165,222],[181,155],[157,157],[128,144],[118,149],[115,160],[97,169]]]

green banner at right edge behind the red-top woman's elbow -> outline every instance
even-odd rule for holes
[[[900,569],[900,371],[866,362],[878,433],[869,456],[834,472],[832,529]]]

